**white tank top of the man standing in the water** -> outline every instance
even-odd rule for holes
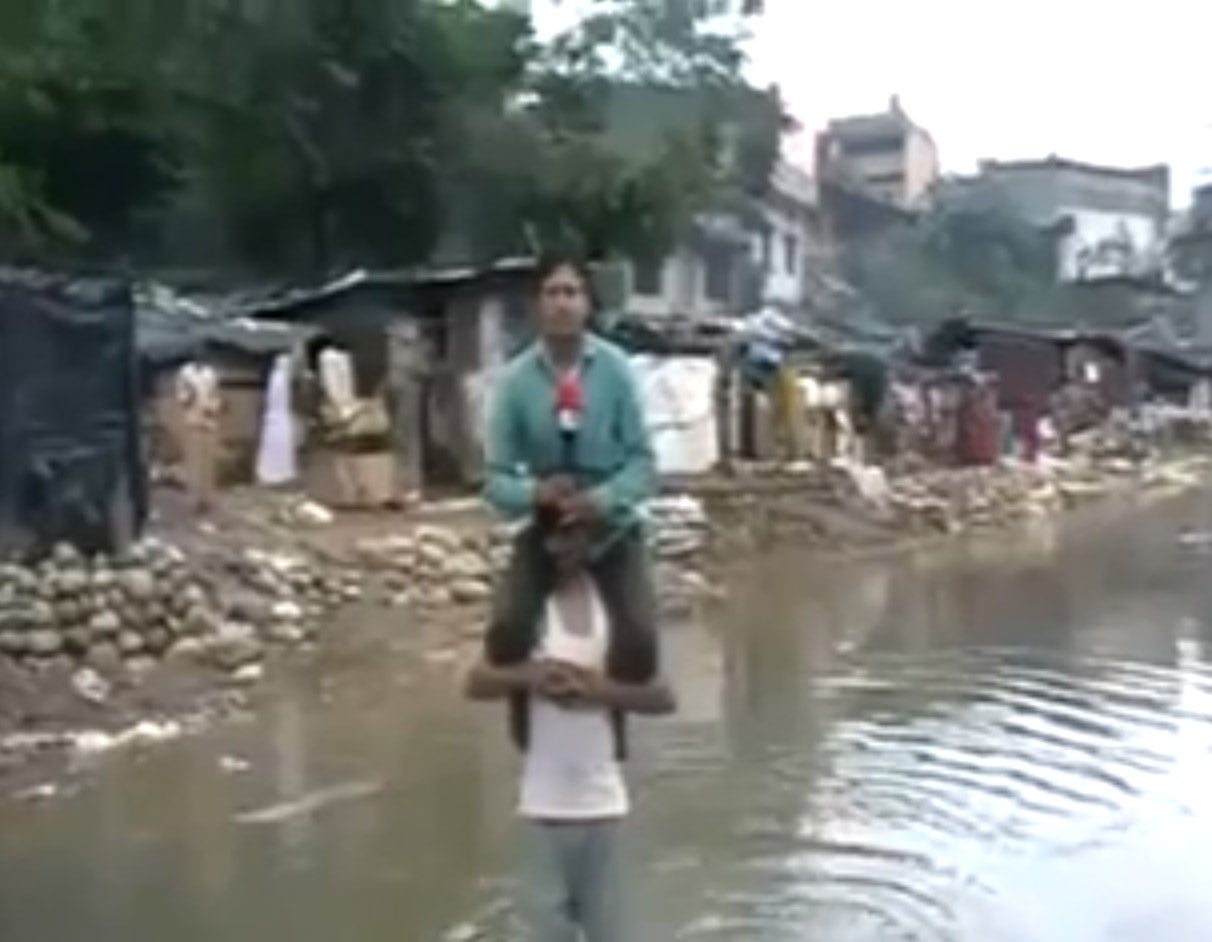
[[[574,634],[565,613],[587,601],[589,630]],[[593,580],[577,578],[548,599],[537,655],[604,670],[608,636],[606,610]],[[532,821],[599,821],[623,817],[628,810],[610,713],[565,709],[531,697],[519,813]]]

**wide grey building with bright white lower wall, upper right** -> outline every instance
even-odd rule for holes
[[[1085,281],[1160,275],[1170,169],[1104,167],[1058,156],[981,164],[970,193],[1057,235],[1057,276]]]

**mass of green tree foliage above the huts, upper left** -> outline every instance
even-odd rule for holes
[[[296,276],[570,240],[657,253],[777,154],[742,22],[601,0],[541,46],[475,0],[10,0],[0,249]],[[642,147],[617,109],[636,89],[665,109]]]

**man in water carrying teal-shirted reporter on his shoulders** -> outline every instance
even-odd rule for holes
[[[617,824],[624,715],[673,709],[641,504],[656,468],[624,354],[588,331],[585,268],[544,262],[539,339],[508,367],[487,435],[487,498],[528,520],[493,606],[478,700],[505,700],[525,753],[525,910],[538,942],[628,942]]]

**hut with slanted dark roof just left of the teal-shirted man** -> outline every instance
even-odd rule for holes
[[[385,415],[383,440],[356,458],[355,499],[328,478],[327,445],[313,449],[313,490],[337,503],[382,504],[482,478],[488,392],[528,336],[534,261],[487,267],[356,272],[245,313],[313,329],[349,355],[355,395]],[[361,473],[359,472],[359,473]],[[337,493],[333,493],[333,490]]]

